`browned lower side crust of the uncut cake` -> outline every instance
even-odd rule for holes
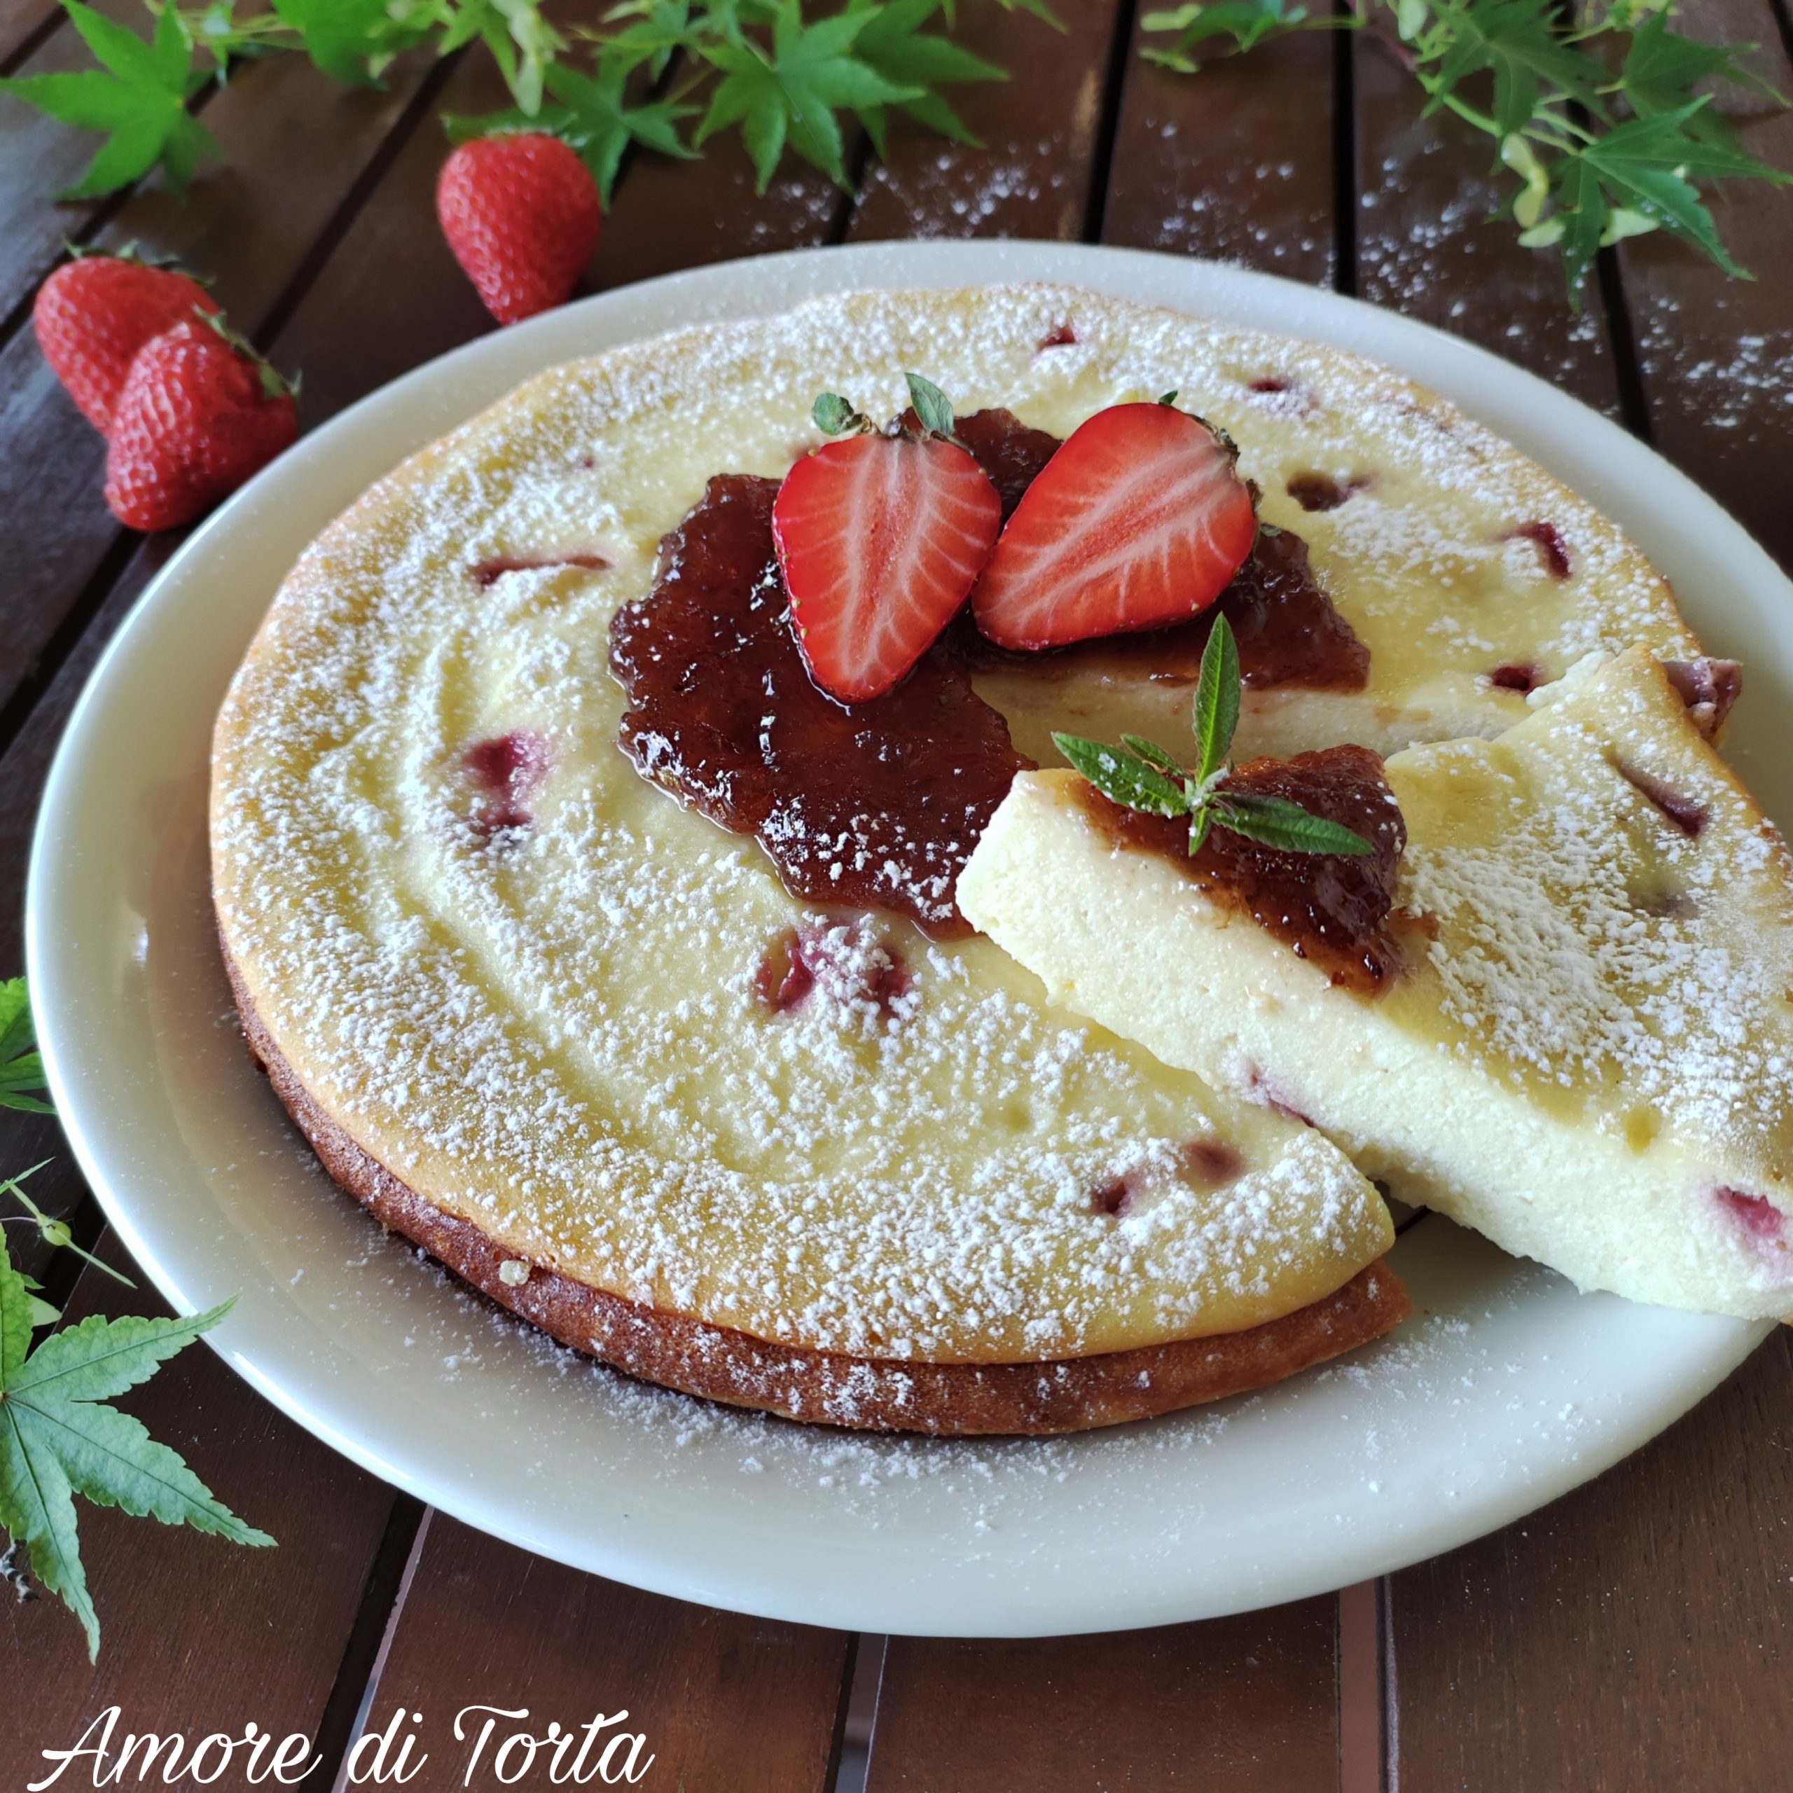
[[[382,1226],[561,1345],[735,1408],[857,1431],[940,1436],[1081,1433],[1268,1388],[1368,1345],[1411,1311],[1386,1259],[1282,1320],[1219,1338],[1054,1363],[895,1363],[803,1350],[662,1312],[545,1266],[509,1284],[509,1252],[402,1183],[330,1119],[282,1056],[222,945],[244,1038],[325,1169]]]

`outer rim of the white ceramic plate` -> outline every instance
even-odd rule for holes
[[[1113,282],[1110,283],[1099,278],[1101,271],[1112,271]],[[1097,278],[1092,278],[1092,274]],[[113,697],[120,683],[127,683],[129,662],[138,647],[138,642],[143,638],[147,629],[156,626],[160,608],[169,602],[163,593],[178,592],[186,577],[203,576],[201,568],[206,558],[215,554],[221,543],[228,547],[233,531],[246,527],[246,522],[253,522],[260,506],[265,506],[271,497],[278,495],[289,482],[303,482],[310,470],[326,461],[333,445],[355,441],[364,430],[368,430],[369,421],[377,423],[389,412],[405,411],[407,403],[414,402],[418,394],[427,393],[427,389],[434,387],[436,400],[441,400],[445,393],[455,393],[459,389],[455,375],[470,368],[504,368],[507,369],[504,385],[513,385],[516,380],[524,378],[527,371],[568,359],[563,350],[550,344],[561,344],[563,339],[576,337],[579,326],[586,321],[601,319],[606,314],[622,314],[631,307],[653,312],[660,308],[656,301],[665,301],[669,298],[676,299],[676,303],[669,308],[680,314],[678,323],[692,323],[701,321],[705,316],[771,316],[787,308],[791,303],[796,303],[807,292],[819,294],[862,287],[900,285],[986,285],[1015,278],[1096,287],[1097,290],[1113,292],[1119,298],[1139,298],[1140,287],[1162,287],[1162,296],[1146,298],[1144,303],[1164,303],[1174,308],[1219,310],[1221,316],[1226,316],[1226,312],[1216,303],[1217,299],[1228,305],[1234,299],[1248,303],[1253,296],[1273,292],[1278,303],[1269,307],[1271,310],[1277,310],[1280,305],[1296,305],[1296,308],[1312,310],[1318,317],[1336,319],[1339,325],[1336,333],[1307,328],[1302,332],[1304,335],[1320,341],[1334,341],[1339,346],[1356,350],[1357,353],[1370,353],[1372,359],[1391,360],[1391,364],[1402,373],[1420,378],[1425,385],[1438,387],[1442,382],[1436,371],[1424,375],[1413,373],[1413,360],[1420,360],[1429,368],[1443,368],[1447,371],[1445,384],[1456,384],[1454,378],[1449,378],[1451,369],[1454,368],[1468,369],[1465,378],[1470,378],[1477,371],[1483,375],[1497,371],[1503,380],[1513,382],[1515,393],[1542,409],[1546,416],[1572,418],[1572,429],[1576,432],[1587,432],[1587,445],[1583,445],[1581,454],[1569,455],[1569,459],[1587,463],[1590,459],[1589,445],[1592,445],[1592,448],[1599,448],[1601,457],[1605,457],[1607,470],[1615,479],[1615,484],[1608,486],[1608,489],[1614,491],[1623,489],[1628,470],[1646,463],[1657,479],[1662,479],[1664,475],[1671,477],[1682,488],[1676,495],[1678,500],[1702,520],[1702,527],[1709,533],[1712,529],[1721,533],[1725,550],[1728,554],[1730,576],[1736,577],[1743,574],[1745,577],[1761,581],[1761,585],[1782,604],[1793,601],[1793,583],[1780,574],[1779,567],[1775,567],[1775,563],[1768,558],[1766,550],[1763,550],[1743,531],[1743,525],[1730,518],[1728,513],[1716,504],[1716,500],[1694,486],[1687,475],[1657,455],[1648,445],[1630,436],[1612,420],[1583,407],[1580,402],[1569,398],[1556,387],[1551,387],[1538,377],[1513,368],[1501,357],[1436,330],[1431,325],[1395,312],[1384,312],[1377,307],[1366,305],[1364,301],[1332,294],[1323,289],[1311,289],[1282,276],[1262,274],[1226,264],[1198,262],[1194,258],[1160,255],[1155,251],[1110,249],[1106,246],[1058,242],[895,242],[800,249],[775,256],[748,256],[737,262],[712,264],[701,269],[685,269],[660,276],[653,282],[611,289],[570,307],[563,307],[559,312],[547,314],[529,325],[516,326],[502,333],[477,337],[473,342],[450,350],[446,355],[425,362],[421,368],[411,369],[396,380],[387,382],[375,393],[360,398],[355,405],[344,409],[339,416],[328,420],[307,437],[301,437],[296,450],[258,475],[204,525],[201,525],[201,529],[197,529],[186,543],[183,543],[167,567],[158,572],[154,581],[151,581],[145,592],[138,597],[129,615],[106,644],[70,714],[45,782],[45,794],[32,832],[25,907],[25,943],[27,972],[32,981],[34,999],[39,1002],[38,1024],[47,1078],[57,1103],[63,1128],[68,1135],[70,1148],[86,1174],[90,1187],[99,1198],[108,1221],[115,1226],[120,1239],[138,1259],[138,1264],[143,1268],[149,1280],[156,1284],[156,1287],[178,1311],[192,1312],[199,1307],[199,1300],[190,1291],[192,1268],[188,1266],[183,1273],[181,1268],[170,1260],[170,1253],[158,1248],[158,1241],[138,1223],[138,1217],[131,1210],[129,1191],[126,1187],[127,1176],[122,1174],[111,1162],[108,1146],[100,1144],[102,1130],[99,1126],[90,1128],[90,1117],[84,1108],[86,1096],[79,1090],[79,1047],[72,1040],[72,1035],[77,1029],[68,1020],[68,1013],[72,1013],[72,1009],[65,1011],[65,997],[70,1004],[74,1002],[74,997],[68,995],[65,988],[65,979],[70,974],[65,965],[57,963],[57,947],[54,938],[56,927],[52,920],[56,914],[54,891],[57,880],[70,875],[70,866],[57,857],[56,821],[59,805],[72,789],[79,789],[82,755],[91,751],[93,737],[100,726],[95,717],[102,714],[106,703]],[[1178,285],[1192,289],[1183,298],[1182,305],[1171,296],[1171,289]],[[767,296],[767,303],[741,305],[739,299],[742,290],[764,292]],[[712,307],[712,310],[705,310],[705,307]],[[676,328],[678,323],[663,323],[660,328]],[[658,330],[645,333],[658,333]],[[1381,342],[1388,335],[1415,344],[1413,359],[1393,359],[1379,346],[1361,346],[1361,341]],[[486,402],[489,400],[481,398],[479,403],[466,407],[461,414],[470,416],[473,411],[482,409]],[[437,405],[437,411],[441,407]],[[1472,407],[1465,405],[1465,409]],[[425,405],[423,411],[425,414],[430,414],[429,405]],[[1479,407],[1472,409],[1472,414],[1488,421]],[[427,434],[421,439],[441,434],[446,427],[450,425],[441,423],[439,418],[436,418],[427,425]],[[1499,430],[1499,425],[1492,421],[1490,427]],[[1533,454],[1535,459],[1544,461],[1551,472],[1563,477],[1590,502],[1599,504],[1603,509],[1612,509],[1610,502],[1599,489],[1608,484],[1607,481],[1589,481],[1585,473],[1581,479],[1569,479],[1555,459],[1540,455],[1537,448],[1529,448],[1526,452]],[[1590,484],[1594,484],[1596,489],[1589,489]],[[1648,534],[1648,531],[1635,531],[1630,518],[1624,520],[1624,527],[1633,536]],[[1644,545],[1646,554],[1651,552],[1648,541],[1642,541],[1641,545]],[[178,1250],[172,1253],[174,1259],[179,1259],[179,1255],[181,1253]],[[1736,1334],[1723,1348],[1714,1348],[1698,1363],[1698,1366],[1689,1366],[1691,1373],[1680,1379],[1673,1397],[1673,1402],[1676,1404],[1675,1413],[1657,1411],[1637,1420],[1635,1424],[1608,1427],[1599,1438],[1599,1443],[1576,1458],[1572,1463],[1558,1465],[1555,1474],[1540,1476],[1524,1483],[1522,1488],[1510,1490],[1504,1499],[1483,1503],[1474,1510],[1474,1519],[1468,1524],[1460,1522],[1447,1528],[1451,1531],[1451,1538],[1443,1544],[1433,1538],[1425,1542],[1424,1547],[1416,1549],[1409,1528],[1408,1531],[1391,1535],[1381,1549],[1364,1542],[1339,1547],[1332,1558],[1338,1563],[1339,1574],[1325,1585],[1338,1587],[1363,1580],[1368,1574],[1390,1572],[1408,1565],[1409,1562],[1434,1555],[1438,1549],[1468,1542],[1470,1538],[1497,1529],[1499,1526],[1535,1510],[1546,1501],[1558,1497],[1578,1483],[1590,1479],[1603,1468],[1619,1461],[1623,1456],[1628,1456],[1667,1424],[1673,1424],[1680,1413],[1687,1411],[1687,1408],[1716,1388],[1770,1330],[1771,1325],[1766,1321],[1737,1323]],[[280,1411],[287,1413],[314,1436],[321,1438],[326,1445],[348,1456],[351,1461],[359,1463],[380,1479],[403,1488],[452,1517],[463,1519],[464,1522],[498,1537],[509,1537],[513,1540],[518,1538],[515,1519],[497,1513],[489,1501],[482,1501],[473,1488],[445,1486],[439,1479],[420,1474],[414,1467],[407,1467],[403,1461],[396,1461],[393,1456],[384,1454],[378,1449],[375,1436],[344,1427],[339,1424],[337,1416],[321,1411],[314,1402],[307,1402],[303,1397],[296,1395],[292,1388],[282,1381],[276,1370],[269,1368],[262,1361],[256,1361],[253,1354],[242,1350],[240,1345],[233,1345],[231,1339],[233,1334],[230,1327],[226,1327],[222,1334],[210,1334],[206,1343],[217,1350],[219,1356],[222,1356],[224,1361],[230,1363],[231,1368],[256,1390],[256,1393],[267,1399]],[[1684,1400],[1682,1397],[1687,1399]],[[954,1614],[947,1610],[934,1610],[927,1601],[920,1605],[886,1601],[882,1608],[868,1610],[864,1601],[855,1601],[853,1596],[841,1587],[832,1587],[825,1592],[818,1592],[816,1589],[794,1592],[791,1587],[780,1585],[776,1576],[767,1578],[766,1574],[753,1572],[737,1574],[733,1580],[724,1576],[719,1581],[714,1565],[710,1565],[708,1572],[701,1572],[689,1562],[669,1562],[663,1556],[644,1558],[626,1537],[615,1540],[585,1540],[585,1547],[574,1549],[572,1553],[568,1553],[565,1540],[543,1542],[529,1538],[527,1547],[540,1549],[543,1555],[554,1556],[561,1562],[570,1562],[574,1567],[624,1580],[638,1587],[647,1587],[653,1592],[672,1598],[726,1605],[737,1610],[757,1612],[766,1617],[812,1624],[837,1624],[843,1628],[868,1632],[1042,1635],[1117,1630],[1139,1624],[1171,1623],[1176,1617],[1217,1615],[1230,1610],[1244,1610],[1252,1605],[1298,1598],[1304,1590],[1323,1590],[1320,1585],[1304,1585],[1295,1590],[1278,1587],[1268,1594],[1266,1599],[1234,1598],[1230,1603],[1223,1601],[1219,1605],[1201,1605],[1200,1612],[1185,1610],[1189,1608],[1189,1599],[1182,1596],[1178,1596],[1180,1605],[1173,1601],[1174,1610],[1165,1610],[1162,1605],[1149,1601],[1139,1603],[1135,1608],[1124,1612],[1115,1612],[1106,1605],[1103,1610],[1092,1610],[1088,1599],[1085,1599],[1083,1603],[1065,1603],[1065,1615],[1069,1623],[1040,1623],[1040,1615],[1036,1612],[1022,1612],[1011,1615],[1015,1623],[1004,1624],[1000,1615],[993,1615],[984,1610],[975,1614],[979,1623],[965,1623],[963,1612]],[[993,1619],[997,1623],[992,1623]]]

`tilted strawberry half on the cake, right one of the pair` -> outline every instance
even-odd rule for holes
[[[1060,647],[1207,610],[1257,540],[1232,445],[1173,405],[1110,405],[1015,507],[972,593],[1000,647]]]

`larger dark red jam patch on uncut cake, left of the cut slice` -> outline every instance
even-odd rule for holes
[[[868,703],[818,690],[778,579],[776,497],[775,479],[712,479],[660,543],[649,595],[617,611],[622,748],[692,809],[755,836],[793,895],[968,934],[954,886],[1029,762],[940,647]]]

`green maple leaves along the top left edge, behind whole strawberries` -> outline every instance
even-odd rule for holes
[[[1058,23],[1047,0],[999,4]],[[0,91],[52,118],[104,133],[63,199],[115,192],[156,167],[183,192],[203,156],[222,156],[194,117],[199,93],[240,63],[278,52],[369,84],[407,50],[450,56],[484,43],[511,106],[448,117],[450,136],[563,136],[606,206],[631,143],[690,158],[730,129],[741,133],[760,192],[785,149],[848,186],[845,120],[855,118],[880,152],[893,109],[975,142],[945,90],[1008,79],[925,29],[936,13],[950,23],[950,0],[846,0],[827,18],[807,16],[803,0],[620,0],[602,27],[570,34],[543,16],[541,0],[143,0],[147,39],[82,0],[63,5],[100,66],[0,81]]]

